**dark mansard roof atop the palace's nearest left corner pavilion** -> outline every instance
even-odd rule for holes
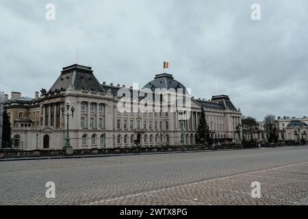
[[[64,67],[49,92],[59,92],[67,88],[105,92],[101,83],[94,76],[92,68],[79,64]]]

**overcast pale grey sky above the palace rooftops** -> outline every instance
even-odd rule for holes
[[[0,0],[0,90],[48,90],[77,48],[101,82],[143,86],[167,60],[195,98],[228,94],[258,120],[308,116],[305,0]]]

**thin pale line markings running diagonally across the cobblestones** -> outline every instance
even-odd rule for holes
[[[181,187],[186,187],[186,186],[198,185],[200,183],[207,183],[207,182],[223,180],[223,179],[230,179],[232,177],[238,177],[238,176],[241,176],[241,175],[251,175],[251,174],[257,173],[257,172],[266,172],[268,170],[278,170],[278,169],[281,169],[281,168],[286,168],[286,167],[296,166],[296,165],[301,165],[301,164],[308,164],[308,162],[300,162],[300,163],[297,163],[297,164],[287,164],[287,165],[284,165],[284,166],[277,166],[277,167],[268,168],[268,169],[265,169],[265,170],[255,170],[255,171],[251,171],[251,172],[242,172],[242,173],[239,173],[239,174],[236,174],[236,175],[230,175],[230,176],[227,176],[227,177],[218,177],[218,178],[207,179],[207,180],[199,181],[199,182],[195,182],[195,183],[187,183],[187,184],[183,184],[183,185],[175,185],[175,186],[172,186],[170,188],[164,188],[164,189],[160,189],[160,190],[153,190],[153,191],[148,191],[148,192],[140,192],[138,194],[131,194],[131,195],[127,195],[127,196],[120,196],[120,197],[111,198],[111,199],[103,199],[103,200],[100,200],[100,201],[94,201],[92,203],[88,203],[88,204],[84,204],[84,205],[95,205],[95,204],[99,204],[99,203],[116,201],[116,200],[124,199],[124,198],[131,198],[131,197],[140,196],[140,195],[152,194],[154,192],[164,192],[164,191],[172,190],[172,189],[175,189],[175,188],[181,188]],[[263,177],[263,176],[259,176],[259,177]],[[272,177],[272,178],[274,178],[274,177]],[[285,179],[285,178],[281,178],[281,179]],[[294,180],[294,181],[300,181],[300,180]],[[303,181],[303,182],[308,182],[308,181]],[[272,197],[274,198],[274,196],[272,196]]]

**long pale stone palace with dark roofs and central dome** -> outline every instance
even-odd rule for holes
[[[13,147],[62,149],[67,127],[62,107],[66,108],[67,103],[75,107],[68,120],[73,149],[194,145],[202,106],[213,138],[220,142],[239,139],[235,127],[241,123],[242,114],[227,95],[212,96],[211,100],[191,97],[190,117],[180,123],[180,112],[119,112],[117,106],[123,95],[119,96],[118,91],[123,88],[100,83],[91,67],[73,64],[63,68],[49,90],[35,92],[34,98],[12,92],[9,99],[5,94]],[[185,90],[183,83],[167,73],[155,75],[144,88]],[[132,87],[125,89],[134,92]],[[141,100],[138,97],[135,101]]]

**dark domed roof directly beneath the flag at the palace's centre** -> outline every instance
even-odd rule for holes
[[[166,88],[167,90],[169,90],[170,88],[174,88],[175,90],[177,90],[178,88],[182,88],[184,92],[186,89],[182,83],[176,81],[175,79],[173,79],[172,75],[167,73],[155,75],[154,80],[150,81],[149,83],[146,83],[143,88],[150,88],[152,91],[154,91],[155,88]]]

